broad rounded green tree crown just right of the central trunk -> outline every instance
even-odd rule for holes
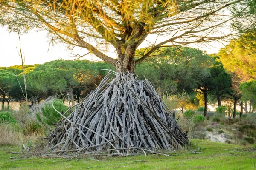
[[[142,48],[136,52],[141,55]],[[197,84],[208,76],[207,67],[211,65],[209,55],[196,48],[160,48],[145,61],[137,65],[136,73],[144,76],[159,87],[162,93],[194,92]]]

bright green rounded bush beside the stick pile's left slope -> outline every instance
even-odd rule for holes
[[[65,111],[67,111],[67,109],[69,109],[69,107],[64,105],[63,101],[60,99],[53,100],[53,105],[55,109],[60,113],[64,113]],[[52,107],[51,102],[47,103],[41,108],[43,117],[41,117],[39,113],[36,113],[35,116],[39,122],[47,125],[53,125],[52,122],[57,123],[58,119],[61,118],[61,115],[57,111],[55,111],[55,109]]]

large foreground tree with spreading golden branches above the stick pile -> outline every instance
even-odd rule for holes
[[[165,44],[183,46],[233,34],[218,30],[249,10],[244,3],[247,0],[6,0],[0,3],[0,23],[11,31],[45,28],[51,33],[52,42],[61,40],[86,48],[115,65],[116,71],[135,73],[136,64]],[[225,10],[234,5],[236,11],[227,16]],[[135,61],[135,50],[149,34],[168,37],[151,42],[149,50]],[[102,45],[111,45],[118,58],[105,55]]]

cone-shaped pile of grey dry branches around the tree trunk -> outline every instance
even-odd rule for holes
[[[186,133],[147,79],[122,73],[111,78],[110,74],[72,113],[72,108],[59,112],[62,118],[49,134],[52,152],[134,153],[189,145]]]

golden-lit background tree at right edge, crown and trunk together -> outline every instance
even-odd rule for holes
[[[241,91],[239,91],[240,83],[256,78],[255,34],[255,30],[249,30],[241,34],[237,39],[231,40],[230,44],[226,45],[225,48],[221,48],[218,53],[224,68],[232,73],[233,93],[231,96],[234,99],[234,105],[241,98]],[[243,107],[242,102],[240,106],[247,111],[247,101],[244,101],[244,103],[245,107]],[[235,111],[236,109],[234,109],[234,113]],[[240,114],[242,114],[242,110]]]

